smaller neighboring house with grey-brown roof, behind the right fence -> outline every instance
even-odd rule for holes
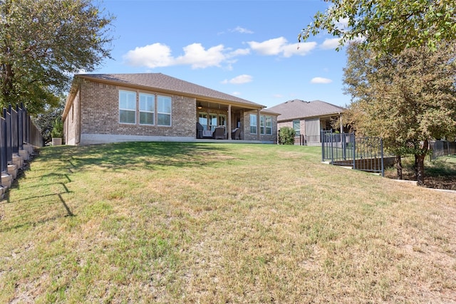
[[[277,130],[281,127],[294,129],[295,143],[304,141],[305,145],[321,145],[321,130],[331,130],[332,120],[339,120],[340,128],[343,129],[342,113],[345,109],[321,100],[288,100],[269,110],[280,113],[277,117]]]

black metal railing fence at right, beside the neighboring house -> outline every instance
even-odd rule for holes
[[[321,131],[321,161],[353,167],[385,176],[383,140],[379,137],[356,137],[354,133]],[[388,155],[388,163],[393,156]]]

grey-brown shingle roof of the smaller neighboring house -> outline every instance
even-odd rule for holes
[[[280,113],[279,117],[277,117],[277,121],[280,122],[284,120],[337,115],[345,109],[321,100],[304,101],[294,99],[280,105],[274,105],[274,107],[268,108],[268,110]]]

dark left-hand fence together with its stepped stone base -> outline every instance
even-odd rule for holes
[[[43,147],[43,137],[31,121],[24,105],[11,105],[3,109],[0,117],[0,169],[1,186],[11,185],[11,172],[21,169],[33,147]],[[15,173],[12,178],[16,178]],[[5,186],[6,184],[6,186]]]

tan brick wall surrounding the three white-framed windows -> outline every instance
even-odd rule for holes
[[[119,90],[137,93],[135,125],[119,123]],[[138,93],[166,95],[172,98],[170,127],[139,125]],[[195,137],[195,111],[195,98],[182,95],[162,94],[152,90],[138,90],[92,81],[83,82],[81,87],[81,134]]]

